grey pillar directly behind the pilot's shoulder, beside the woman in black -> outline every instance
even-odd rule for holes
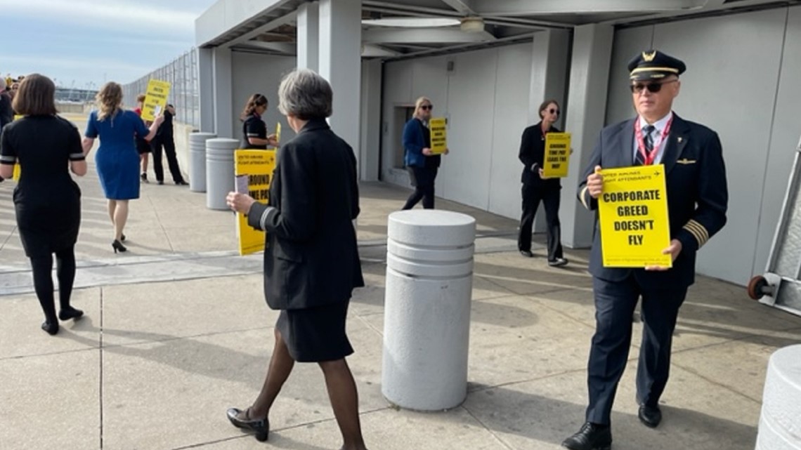
[[[611,25],[582,25],[574,28],[570,63],[570,98],[567,100],[565,129],[572,134],[574,154],[570,173],[562,180],[562,243],[567,247],[590,247],[593,214],[576,199],[578,183],[606,119],[606,90],[609,87],[614,28]],[[626,80],[620,80],[626,82]]]

